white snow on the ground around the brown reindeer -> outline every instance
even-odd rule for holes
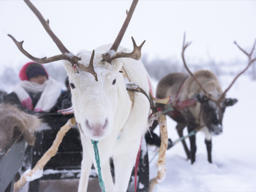
[[[232,76],[220,77],[223,89]],[[157,81],[153,81],[155,90]],[[241,76],[227,96],[238,99],[233,107],[226,108],[223,133],[212,139],[212,164],[207,161],[204,134],[196,134],[196,162],[191,165],[180,143],[166,152],[166,179],[154,191],[256,191],[256,81]],[[176,123],[167,118],[169,138],[178,139]],[[155,130],[159,133],[159,128]],[[184,130],[184,135],[187,130]],[[189,146],[189,140],[186,140]],[[149,147],[149,159],[156,153]],[[157,157],[150,164],[150,179],[156,177]]]

